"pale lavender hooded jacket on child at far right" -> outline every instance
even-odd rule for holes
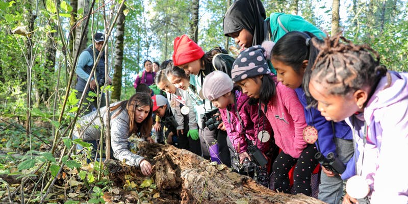
[[[387,87],[387,77],[382,78],[364,108],[367,125],[364,157],[360,148],[356,152],[360,154],[357,166],[371,187],[373,204],[408,203],[408,162],[405,158],[408,155],[408,73],[389,73],[391,86]],[[364,122],[351,118],[348,122],[352,123],[353,130],[364,129]],[[361,139],[364,134],[355,137],[358,147],[364,146]]]

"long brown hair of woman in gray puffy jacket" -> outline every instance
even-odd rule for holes
[[[149,106],[150,110],[147,117],[141,122],[136,122],[136,109],[138,107]],[[110,111],[114,111],[121,107],[121,110],[115,114],[116,117],[122,110],[127,110],[127,115],[129,115],[129,136],[135,134],[139,137],[148,137],[151,132],[151,125],[153,121],[151,120],[151,114],[153,109],[153,101],[149,94],[144,92],[135,93],[129,100],[124,100],[116,106],[110,107]],[[138,134],[140,133],[140,134]]]

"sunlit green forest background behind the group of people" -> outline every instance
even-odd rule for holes
[[[273,0],[272,12],[300,15],[328,34],[342,31],[355,43],[372,46],[389,69],[408,71],[406,0]],[[333,3],[340,4],[338,19]],[[143,61],[171,59],[173,40],[188,34],[210,50],[234,45],[222,30],[231,0],[3,0],[0,1],[0,171],[30,177],[42,162],[57,167],[56,149],[71,146],[69,129],[78,117],[72,94],[75,63],[96,32],[107,33],[105,50],[113,80],[111,102],[134,94]],[[334,25],[333,25],[334,24]],[[33,159],[45,148],[50,154]],[[61,152],[61,157],[67,151]],[[56,157],[58,158],[58,157]],[[58,163],[59,162],[59,163]],[[21,165],[23,164],[23,165]],[[57,175],[58,168],[51,168]],[[55,172],[57,170],[57,172]],[[52,176],[51,176],[52,177]],[[49,179],[49,178],[48,178]],[[46,181],[45,181],[46,182]],[[5,183],[2,183],[5,189]],[[6,190],[0,192],[0,197]]]

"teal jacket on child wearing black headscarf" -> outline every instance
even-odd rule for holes
[[[282,25],[279,24],[278,18]],[[279,38],[291,31],[308,31],[320,39],[326,37],[325,33],[300,16],[285,13],[272,13],[270,17],[266,19],[266,21],[268,20],[270,23],[270,40],[275,43],[277,40],[279,40]]]

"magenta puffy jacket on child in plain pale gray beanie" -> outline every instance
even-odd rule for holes
[[[233,143],[235,149],[240,154],[244,151],[247,151],[248,145],[245,141],[245,136],[248,140],[252,141],[253,144],[257,144],[258,148],[262,152],[266,152],[269,149],[269,141],[265,143],[260,142],[258,141],[257,136],[258,124],[260,124],[259,131],[265,130],[272,135],[272,127],[270,126],[268,119],[265,118],[264,124],[264,118],[262,117],[262,115],[261,117],[259,117],[258,106],[249,105],[249,97],[247,95],[243,94],[241,91],[236,91],[235,96],[237,98],[237,107],[239,115],[241,116],[242,125],[239,122],[235,106],[228,107],[228,111],[231,114],[231,124],[228,122],[226,109],[219,109],[222,121],[224,122],[224,125],[226,127],[228,137],[230,137],[230,140]],[[265,129],[263,129],[264,126]]]

